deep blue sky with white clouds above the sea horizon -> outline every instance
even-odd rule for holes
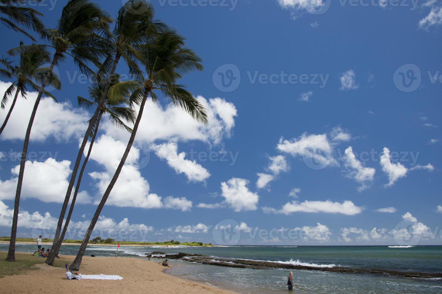
[[[121,5],[96,2],[112,16]],[[321,0],[207,6],[196,0],[152,1],[156,17],[187,37],[204,60],[205,70],[188,74],[182,83],[205,101],[213,120],[202,127],[168,108],[167,100],[148,105],[150,116],[133,149],[139,156],[131,157],[127,181],[101,213],[103,231],[128,218],[137,224],[130,228],[148,231],[140,239],[216,242],[217,223],[231,219],[241,231],[239,244],[399,244],[395,236],[406,227],[408,237],[421,237],[419,244],[440,244],[442,3],[380,2],[342,0],[328,7],[329,1]],[[37,7],[46,26],[55,25],[63,3]],[[3,33],[1,52],[28,41]],[[71,81],[78,74],[72,60],[58,71],[62,90],[51,93],[60,103],[41,105],[43,129],[33,128],[29,150],[37,155],[30,158],[34,168],[27,165],[29,187],[20,202],[22,236],[33,234],[39,218],[47,226],[58,218],[64,193],[53,186],[62,191],[69,181],[91,115],[76,106],[88,83]],[[120,63],[117,71],[127,69]],[[227,77],[235,78],[230,87]],[[32,95],[19,101],[16,118],[0,137],[0,235],[10,230],[16,177],[11,169],[19,164],[14,153],[22,148],[20,130],[28,119],[20,112],[27,113]],[[102,195],[100,184],[107,186],[112,160],[119,161],[118,147],[128,138],[106,122],[101,135],[72,227],[87,226],[93,201]],[[176,159],[175,152],[186,156]],[[213,159],[207,160],[210,152]],[[305,238],[251,238],[248,232],[256,227],[297,229]]]

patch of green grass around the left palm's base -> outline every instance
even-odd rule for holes
[[[38,269],[35,264],[42,264],[46,261],[46,258],[35,257],[31,253],[15,253],[15,261],[5,261],[7,252],[0,252],[0,278],[5,275],[19,275],[28,270]],[[63,268],[67,260],[63,258],[57,258],[54,262],[54,266]]]

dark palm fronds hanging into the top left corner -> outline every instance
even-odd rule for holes
[[[40,3],[43,0],[35,0]],[[23,30],[20,26],[25,26],[28,29],[34,30],[40,37],[46,37],[46,29],[43,22],[38,18],[43,16],[40,12],[30,7],[23,7],[26,4],[24,0],[0,0],[0,22],[16,32],[23,33],[35,42],[34,37]],[[6,16],[6,17],[5,17]]]

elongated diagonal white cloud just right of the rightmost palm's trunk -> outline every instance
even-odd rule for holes
[[[178,144],[176,142],[168,142],[160,145],[152,144],[150,148],[162,160],[166,160],[168,165],[172,167],[177,174],[184,174],[191,182],[204,182],[210,177],[207,171],[201,164],[196,161],[185,159],[186,153],[178,154]]]

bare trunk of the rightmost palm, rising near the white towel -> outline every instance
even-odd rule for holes
[[[71,270],[78,271],[80,269],[81,260],[84,255],[84,251],[86,250],[86,246],[88,246],[89,238],[91,238],[92,231],[94,230],[95,224],[97,223],[98,217],[100,216],[101,210],[103,209],[104,204],[107,201],[107,197],[109,197],[109,194],[112,191],[112,188],[114,188],[115,182],[117,182],[118,176],[120,175],[123,165],[126,162],[126,158],[129,155],[129,151],[132,148],[133,141],[135,140],[135,135],[137,134],[138,125],[140,124],[141,116],[143,115],[143,110],[146,104],[148,94],[149,91],[146,90],[144,93],[143,100],[141,101],[140,111],[138,112],[137,120],[135,121],[132,134],[130,134],[130,139],[126,146],[126,150],[124,151],[123,157],[120,160],[120,164],[118,164],[114,176],[110,180],[109,186],[107,186],[106,192],[104,192],[103,198],[101,198],[100,204],[98,205],[94,217],[92,218],[91,223],[89,224],[88,231],[86,231],[86,234],[84,235],[83,242],[81,243],[77,256],[75,257],[75,260],[72,262],[71,266],[69,267]]]

